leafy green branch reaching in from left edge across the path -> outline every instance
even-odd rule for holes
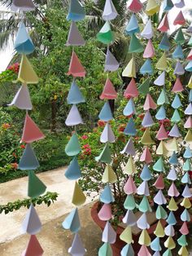
[[[8,214],[14,210],[20,210],[21,207],[29,208],[31,204],[35,206],[44,203],[49,207],[50,204],[53,204],[57,200],[58,196],[59,195],[57,192],[46,192],[46,194],[43,196],[8,202],[7,205],[0,205],[0,214],[3,212],[4,214]]]

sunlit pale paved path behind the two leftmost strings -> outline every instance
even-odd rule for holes
[[[55,204],[51,204],[49,208],[44,204],[36,206],[43,224],[63,216],[74,208],[71,203],[74,181],[65,178],[64,170],[65,168],[62,167],[37,174],[41,181],[46,184],[46,191],[59,193],[58,200],[55,201]],[[28,177],[0,183],[0,205],[27,198],[27,191]],[[86,203],[90,201],[91,199],[88,198]],[[9,214],[0,214],[0,243],[11,241],[21,235],[20,227],[26,212],[27,209],[22,207],[20,210]],[[2,254],[0,255],[2,256]]]

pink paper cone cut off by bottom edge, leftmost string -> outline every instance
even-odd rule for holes
[[[44,251],[41,248],[39,241],[37,241],[37,237],[32,235],[28,241],[27,248],[24,250],[21,256],[42,256],[43,253]]]

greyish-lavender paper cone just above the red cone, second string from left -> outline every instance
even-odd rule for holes
[[[66,46],[84,46],[85,40],[82,38],[81,33],[76,27],[76,23],[72,21],[70,30],[68,33],[68,40]]]

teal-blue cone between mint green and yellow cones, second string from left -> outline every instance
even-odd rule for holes
[[[72,180],[81,178],[81,170],[76,157],[73,157],[64,175],[67,179]]]

